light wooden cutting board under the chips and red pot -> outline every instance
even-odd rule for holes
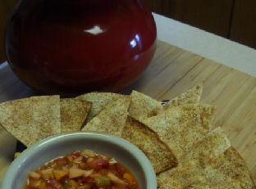
[[[35,95],[0,65],[0,102]],[[171,99],[204,80],[202,103],[217,106],[214,125],[222,126],[231,144],[245,158],[256,178],[256,78],[202,56],[158,42],[151,65],[132,89],[158,100]],[[15,151],[16,141],[0,128],[0,181]]]

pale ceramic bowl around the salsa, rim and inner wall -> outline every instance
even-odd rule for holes
[[[157,178],[148,158],[135,145],[121,137],[105,133],[64,133],[37,142],[11,163],[2,182],[2,189],[21,189],[30,170],[49,160],[73,151],[88,149],[115,157],[139,181],[141,189],[156,189]]]

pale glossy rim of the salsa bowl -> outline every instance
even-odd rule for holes
[[[147,189],[157,189],[157,177],[156,173],[154,172],[153,166],[150,163],[148,157],[144,155],[144,152],[140,151],[137,146],[134,144],[126,141],[125,139],[118,137],[116,135],[108,134],[108,133],[100,133],[100,132],[70,132],[70,133],[59,133],[55,134],[50,137],[46,137],[43,140],[40,140],[39,142],[34,143],[32,146],[28,147],[21,153],[19,157],[17,157],[15,160],[13,160],[7,169],[7,172],[5,173],[3,179],[2,179],[2,188],[8,188],[11,186],[11,183],[13,182],[13,178],[15,178],[17,169],[25,162],[26,159],[30,157],[30,155],[34,155],[36,153],[39,153],[43,147],[51,146],[53,142],[61,142],[71,139],[77,139],[77,138],[83,138],[83,137],[89,137],[91,139],[96,139],[99,141],[104,142],[111,142],[112,144],[115,144],[117,146],[120,146],[121,148],[126,149],[126,151],[130,152],[130,154],[134,155],[135,159],[141,164],[141,167],[144,172],[144,177],[146,180]]]

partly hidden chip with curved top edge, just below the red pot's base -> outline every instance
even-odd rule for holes
[[[88,123],[89,120],[93,119],[95,115],[98,115],[109,102],[116,101],[119,97],[124,97],[124,95],[111,92],[90,92],[76,98],[92,102],[91,110],[86,119],[86,123]]]

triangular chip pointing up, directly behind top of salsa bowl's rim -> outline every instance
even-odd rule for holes
[[[98,115],[82,128],[82,131],[97,131],[121,136],[126,125],[130,97],[119,97],[109,103]]]

